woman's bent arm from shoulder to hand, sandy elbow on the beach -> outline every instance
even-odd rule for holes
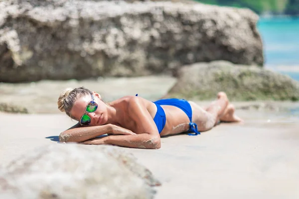
[[[112,135],[82,142],[83,144],[112,144],[131,148],[158,149],[160,135],[142,98],[129,101],[128,114],[136,123],[136,135]]]

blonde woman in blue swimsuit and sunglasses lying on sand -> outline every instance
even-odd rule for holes
[[[126,96],[106,103],[96,92],[85,88],[66,89],[58,98],[58,108],[79,121],[59,135],[61,142],[112,144],[132,148],[158,149],[160,137],[207,131],[219,121],[241,121],[225,93],[207,108],[192,101],[165,99],[151,102]],[[98,137],[110,134],[106,137]]]

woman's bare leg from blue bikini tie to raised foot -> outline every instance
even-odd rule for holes
[[[224,116],[225,110],[229,104],[228,98],[224,92],[219,92],[217,100],[213,101],[205,109],[189,101],[192,107],[192,122],[197,124],[199,131],[207,131],[215,126],[221,117]]]

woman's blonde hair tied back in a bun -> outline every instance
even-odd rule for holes
[[[92,95],[92,92],[84,87],[72,89],[67,88],[62,91],[58,97],[58,109],[62,112],[65,112],[68,116],[72,118],[70,115],[70,111],[77,100],[78,97]]]

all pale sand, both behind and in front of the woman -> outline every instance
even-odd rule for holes
[[[34,114],[0,112],[0,166],[38,146],[57,144],[59,133],[76,123],[57,109],[65,87],[84,85],[108,101],[136,93],[156,100],[174,82],[146,77],[1,83],[0,102],[23,105]],[[198,136],[165,137],[158,150],[122,148],[161,181],[156,199],[299,198],[299,103],[234,104],[245,123],[221,123]]]

